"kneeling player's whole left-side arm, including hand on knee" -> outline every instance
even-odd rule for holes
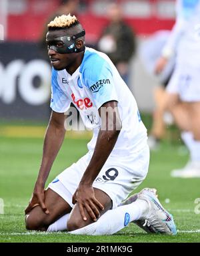
[[[29,213],[36,205],[40,205],[45,213],[49,213],[45,206],[44,188],[51,166],[65,137],[64,122],[65,115],[63,113],[52,112],[45,134],[41,167],[33,190],[33,196],[27,209],[25,209],[25,214]]]

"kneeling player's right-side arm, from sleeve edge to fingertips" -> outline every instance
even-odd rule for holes
[[[107,108],[109,113],[115,109],[115,118],[112,118],[113,114],[105,118],[105,108]],[[85,210],[89,213],[93,221],[97,221],[100,215],[99,209],[103,210],[103,205],[95,198],[92,184],[109,157],[109,154],[111,154],[121,130],[121,120],[117,102],[112,101],[103,104],[103,106],[99,108],[99,116],[101,116],[101,129],[99,130],[95,150],[81,178],[79,186],[73,195],[73,203],[78,203],[84,221],[87,221]]]

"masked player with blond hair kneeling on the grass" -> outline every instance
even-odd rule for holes
[[[121,204],[144,180],[149,166],[147,131],[129,88],[107,55],[85,47],[85,31],[75,16],[59,16],[48,29],[52,114],[25,210],[27,229],[108,235],[137,221],[149,232],[176,234],[173,217],[159,203],[155,189],[145,188]],[[89,152],[45,190],[71,102],[85,126],[93,129]]]

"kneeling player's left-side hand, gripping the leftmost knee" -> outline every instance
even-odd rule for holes
[[[25,209],[25,215],[27,215],[34,207],[40,206],[44,213],[49,214],[49,210],[45,205],[45,193],[43,188],[35,188],[33,195],[29,201],[29,205]]]

